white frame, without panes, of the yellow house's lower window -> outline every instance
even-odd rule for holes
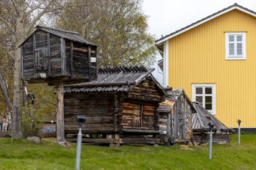
[[[195,88],[196,87],[212,87],[212,95],[205,95],[205,88],[203,88],[203,104],[205,103],[205,96],[212,96],[212,110],[207,110],[208,112],[210,112],[211,114],[216,114],[216,84],[198,84],[198,83],[194,83],[192,84],[192,101],[196,101],[195,100]],[[203,105],[204,106],[204,105]]]

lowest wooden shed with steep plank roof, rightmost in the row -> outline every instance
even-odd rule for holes
[[[209,142],[210,128],[208,124],[214,123],[214,134],[212,142],[226,143],[230,142],[232,128],[225,126],[214,115],[210,114],[199,102],[193,102],[193,106],[197,113],[193,114],[192,128],[193,136],[192,141],[198,143]]]

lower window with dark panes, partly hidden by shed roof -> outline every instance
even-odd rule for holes
[[[193,101],[201,103],[208,112],[215,114],[215,84],[193,84],[192,92]]]

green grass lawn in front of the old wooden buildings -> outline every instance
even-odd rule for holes
[[[82,169],[256,169],[256,135],[236,135],[230,144],[208,146],[128,146],[119,148],[82,145]],[[11,142],[0,138],[0,169],[75,169],[76,145]]]

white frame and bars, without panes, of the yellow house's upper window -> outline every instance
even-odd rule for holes
[[[234,55],[229,55],[229,40],[228,36],[234,36]],[[236,54],[236,36],[242,36],[242,55]],[[246,59],[246,34],[245,32],[226,32],[225,33],[226,41],[226,60],[245,60]]]

